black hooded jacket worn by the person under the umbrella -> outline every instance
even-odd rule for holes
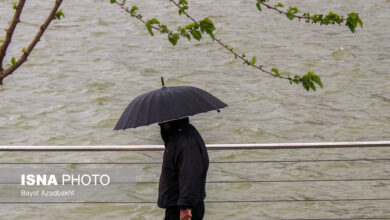
[[[161,128],[165,143],[158,206],[193,208],[206,197],[206,175],[209,158],[205,143],[188,118],[170,122]],[[161,126],[161,125],[160,125]]]

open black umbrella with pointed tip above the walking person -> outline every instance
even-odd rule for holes
[[[172,121],[227,107],[210,93],[192,86],[164,86],[136,97],[122,113],[114,130]]]

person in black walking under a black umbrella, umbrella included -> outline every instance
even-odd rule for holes
[[[188,116],[227,107],[210,93],[192,86],[163,87],[136,97],[114,130],[158,123],[165,151],[158,206],[165,220],[204,217],[209,158],[206,145]]]

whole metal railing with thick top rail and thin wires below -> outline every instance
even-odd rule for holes
[[[283,150],[283,149],[328,149],[328,148],[382,148],[390,147],[390,141],[374,142],[330,142],[330,143],[275,143],[275,144],[208,144],[208,150]],[[163,145],[137,145],[137,146],[0,146],[0,151],[162,151]],[[252,164],[252,163],[327,163],[327,162],[379,162],[390,161],[389,158],[348,158],[348,159],[293,159],[293,160],[246,160],[246,161],[210,161],[211,164]],[[161,162],[9,162],[0,164],[125,164],[125,165],[151,165]],[[293,179],[293,180],[223,180],[208,181],[208,184],[228,183],[299,183],[299,182],[374,182],[390,181],[389,178],[336,178],[336,179]],[[137,181],[137,184],[158,184],[157,181]],[[359,202],[359,201],[390,201],[390,198],[326,198],[326,199],[264,199],[264,200],[206,200],[206,203],[291,203],[291,202]],[[63,202],[67,203],[67,202]],[[73,203],[73,202],[70,202]],[[84,202],[95,203],[95,202]],[[96,202],[110,203],[110,202]],[[130,204],[155,204],[155,201],[113,202]],[[390,210],[389,210],[390,211]],[[321,218],[332,219],[332,218]],[[390,219],[388,217],[359,217],[337,219]]]

